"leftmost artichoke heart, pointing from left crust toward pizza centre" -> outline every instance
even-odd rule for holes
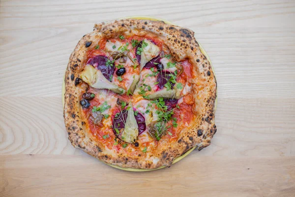
[[[81,72],[80,78],[96,89],[108,89],[118,94],[124,94],[125,90],[108,81],[100,70],[95,69],[91,65],[86,65]]]

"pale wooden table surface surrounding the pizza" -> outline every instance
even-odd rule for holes
[[[295,1],[173,1],[0,1],[1,197],[295,196]],[[212,144],[139,173],[74,149],[61,104],[78,40],[132,15],[192,29],[218,82]]]

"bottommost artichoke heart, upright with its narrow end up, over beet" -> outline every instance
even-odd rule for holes
[[[128,143],[134,143],[138,136],[138,125],[134,116],[132,103],[129,102],[127,110],[127,119],[124,131],[122,132],[122,140]]]

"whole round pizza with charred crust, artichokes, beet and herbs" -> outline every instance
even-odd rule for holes
[[[138,19],[95,24],[71,54],[64,82],[68,139],[106,164],[169,167],[216,132],[216,79],[186,28]]]

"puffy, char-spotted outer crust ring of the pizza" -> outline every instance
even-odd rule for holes
[[[83,120],[80,106],[80,91],[75,86],[75,79],[83,69],[86,61],[86,43],[96,42],[102,37],[118,37],[119,34],[134,34],[157,36],[168,46],[178,62],[189,59],[193,66],[194,79],[190,79],[194,95],[193,110],[197,114],[190,129],[179,131],[175,143],[167,144],[160,140],[156,151],[142,153],[136,156],[115,154],[111,150],[91,139],[88,126]],[[214,103],[217,83],[212,67],[206,56],[202,54],[194,32],[178,26],[168,25],[162,21],[124,19],[109,23],[94,25],[94,30],[83,36],[70,56],[65,73],[65,105],[64,121],[68,131],[68,139],[76,148],[107,163],[121,167],[153,169],[160,166],[170,166],[174,159],[198,146],[198,150],[207,147],[216,132],[214,124]]]

